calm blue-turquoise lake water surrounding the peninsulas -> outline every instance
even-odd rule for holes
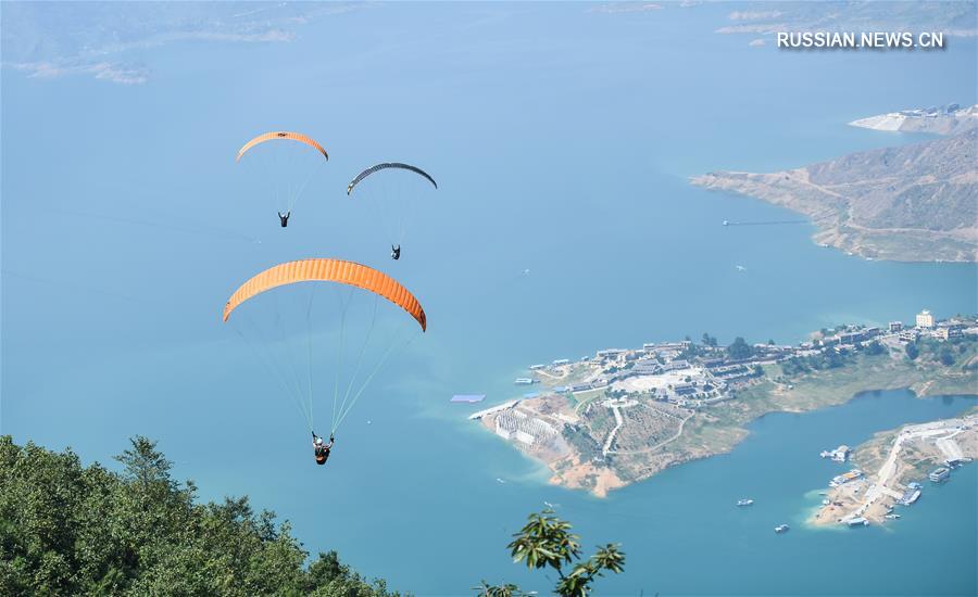
[[[148,49],[142,86],[4,69],[3,433],[103,462],[130,435],[158,439],[203,498],[248,494],[310,550],[335,548],[419,595],[484,577],[546,588],[505,550],[543,500],[586,545],[623,544],[627,573],[603,580],[603,595],[976,593],[974,466],[887,528],[802,525],[837,473],[818,452],[974,398],[883,392],[770,415],[731,454],[603,500],[547,485],[465,420],[473,408],[448,404],[464,392],[502,402],[527,365],[604,347],[704,331],[793,343],[978,306],[974,265],[866,262],[816,246],[807,224],[724,228],[797,216],[686,182],[919,140],[844,123],[976,103],[974,38],[940,53],[787,54],[714,34],[727,5],[587,8],[383,5],[314,21],[289,43]],[[286,231],[233,160],[277,128],[330,152]],[[385,160],[439,181],[397,264],[343,194]],[[394,274],[429,317],[326,470],[220,319],[238,283],[301,256]],[[229,457],[238,442],[247,458]],[[744,495],[756,505],[734,508]],[[781,522],[792,530],[775,535]]]

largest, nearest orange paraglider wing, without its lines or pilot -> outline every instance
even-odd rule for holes
[[[337,282],[373,292],[408,312],[422,327],[422,331],[427,330],[425,309],[400,282],[372,267],[341,259],[301,259],[269,267],[231,294],[224,305],[224,320],[227,321],[231,312],[252,296],[298,282]]]

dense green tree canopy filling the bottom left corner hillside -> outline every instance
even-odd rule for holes
[[[122,473],[0,436],[0,595],[387,597],[335,551],[308,554],[248,498],[196,504],[146,437]]]

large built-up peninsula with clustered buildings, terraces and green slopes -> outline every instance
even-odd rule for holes
[[[868,390],[910,388],[919,396],[978,386],[978,320],[886,329],[841,326],[794,346],[647,343],[577,360],[534,365],[518,382],[539,389],[472,415],[543,461],[551,482],[598,496],[663,469],[729,452],[747,423],[767,412],[813,410]]]

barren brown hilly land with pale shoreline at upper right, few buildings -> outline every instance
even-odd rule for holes
[[[852,123],[958,132],[770,174],[715,172],[693,185],[750,195],[812,218],[814,240],[867,258],[978,261],[978,109],[906,111]]]

